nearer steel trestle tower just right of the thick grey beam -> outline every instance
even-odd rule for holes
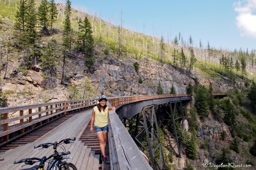
[[[142,113],[129,120],[124,119],[124,124],[140,150],[150,158],[153,169],[166,169],[154,105],[143,107]]]

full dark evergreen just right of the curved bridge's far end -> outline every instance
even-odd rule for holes
[[[209,101],[209,92],[208,89],[202,85],[198,88],[196,93],[196,102],[195,107],[197,108],[198,114],[203,118],[208,115],[208,101]]]

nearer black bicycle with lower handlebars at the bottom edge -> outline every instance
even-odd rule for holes
[[[26,158],[26,159],[20,159],[20,160],[16,160],[14,161],[14,164],[19,164],[24,162],[24,164],[22,165],[25,166],[27,164],[29,165],[33,165],[36,162],[39,162],[39,165],[35,165],[33,167],[29,167],[26,169],[22,169],[22,170],[44,170],[44,163],[47,162],[47,160],[50,159],[47,170],[77,170],[76,166],[70,162],[66,162],[66,161],[62,161],[63,159],[67,159],[68,157],[63,157],[64,155],[69,155],[70,151],[68,152],[60,152],[60,153],[54,153],[52,155],[50,155],[49,157],[43,156],[42,158],[37,158],[37,157],[33,157],[33,158]],[[53,157],[53,159],[51,159]],[[52,160],[56,160],[55,161],[55,165],[54,164],[50,164]],[[59,162],[60,161],[60,162]],[[56,165],[58,165],[57,167],[55,167]]]

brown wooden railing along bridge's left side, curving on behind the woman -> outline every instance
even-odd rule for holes
[[[108,102],[112,106],[117,107],[122,104],[137,102],[141,100],[178,96],[190,95],[169,94],[109,97]],[[3,115],[3,120],[0,120],[0,126],[2,127],[3,125],[0,130],[0,139],[2,138],[0,142],[9,140],[9,135],[11,133],[24,133],[27,129],[32,130],[35,126],[42,125],[42,123],[56,119],[58,116],[62,116],[73,111],[80,111],[91,108],[95,106],[97,102],[98,99],[94,98],[0,108],[0,114]],[[12,116],[12,114],[18,116]]]

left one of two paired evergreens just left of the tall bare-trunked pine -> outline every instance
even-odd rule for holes
[[[47,0],[41,0],[41,3],[38,7],[38,20],[40,21],[41,26],[43,26],[44,35],[48,35],[48,18],[49,18],[49,5]]]

